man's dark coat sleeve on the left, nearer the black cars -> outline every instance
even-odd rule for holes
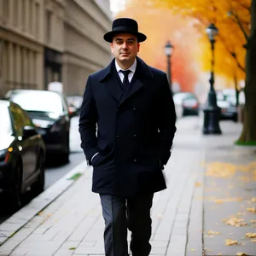
[[[84,100],[79,118],[79,133],[81,137],[81,148],[89,165],[91,158],[98,152],[96,138],[97,112],[96,103],[93,98],[90,76],[84,90]]]

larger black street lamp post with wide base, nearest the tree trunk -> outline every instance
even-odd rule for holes
[[[212,23],[210,26],[207,27],[206,32],[211,42],[212,67],[211,67],[211,78],[209,79],[210,90],[208,92],[207,106],[206,108],[204,108],[203,134],[221,134],[221,131],[218,125],[220,108],[218,108],[216,92],[214,90],[214,43],[215,43],[215,36],[218,34],[218,28]]]

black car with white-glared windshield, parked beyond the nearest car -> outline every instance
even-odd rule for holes
[[[6,95],[25,109],[42,135],[49,158],[69,158],[70,115],[67,100],[61,93],[49,90],[9,90]]]

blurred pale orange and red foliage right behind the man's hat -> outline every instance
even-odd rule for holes
[[[201,51],[199,33],[191,26],[191,19],[181,15],[172,15],[169,9],[156,9],[144,1],[131,0],[117,17],[130,17],[138,21],[139,31],[148,39],[141,45],[139,56],[148,65],[166,72],[164,47],[167,40],[174,45],[172,54],[172,81],[177,82],[181,90],[194,91],[198,81],[196,56]]]

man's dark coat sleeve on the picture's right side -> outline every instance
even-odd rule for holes
[[[158,107],[158,156],[161,164],[166,165],[171,155],[172,140],[177,130],[175,125],[176,111],[166,74],[160,84]]]

